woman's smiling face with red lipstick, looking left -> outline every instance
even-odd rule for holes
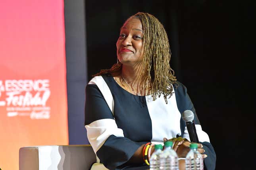
[[[142,61],[142,37],[142,25],[139,19],[131,18],[125,22],[116,42],[117,57],[122,64],[132,66]]]

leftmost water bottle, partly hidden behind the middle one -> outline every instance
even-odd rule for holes
[[[160,169],[160,154],[162,153],[163,146],[161,144],[155,145],[155,151],[150,157],[150,170]]]

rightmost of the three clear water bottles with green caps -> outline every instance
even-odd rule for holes
[[[185,160],[186,170],[204,170],[203,157],[197,148],[197,144],[190,144],[190,151]]]

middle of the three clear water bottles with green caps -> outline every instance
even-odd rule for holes
[[[160,155],[160,169],[179,170],[179,161],[177,153],[171,148],[173,142],[164,142],[164,151]]]

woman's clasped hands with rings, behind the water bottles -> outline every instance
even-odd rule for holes
[[[187,140],[186,138],[171,138],[169,140],[167,140],[167,138],[164,138],[164,142],[166,141],[172,141],[173,142],[173,150],[176,151],[177,155],[179,158],[185,158],[187,153],[189,153],[190,151],[190,144],[191,142],[189,142],[189,140]],[[205,150],[202,148],[203,145],[202,144],[197,144],[198,145],[198,151],[202,154],[203,158],[206,158],[207,155],[204,154]]]

